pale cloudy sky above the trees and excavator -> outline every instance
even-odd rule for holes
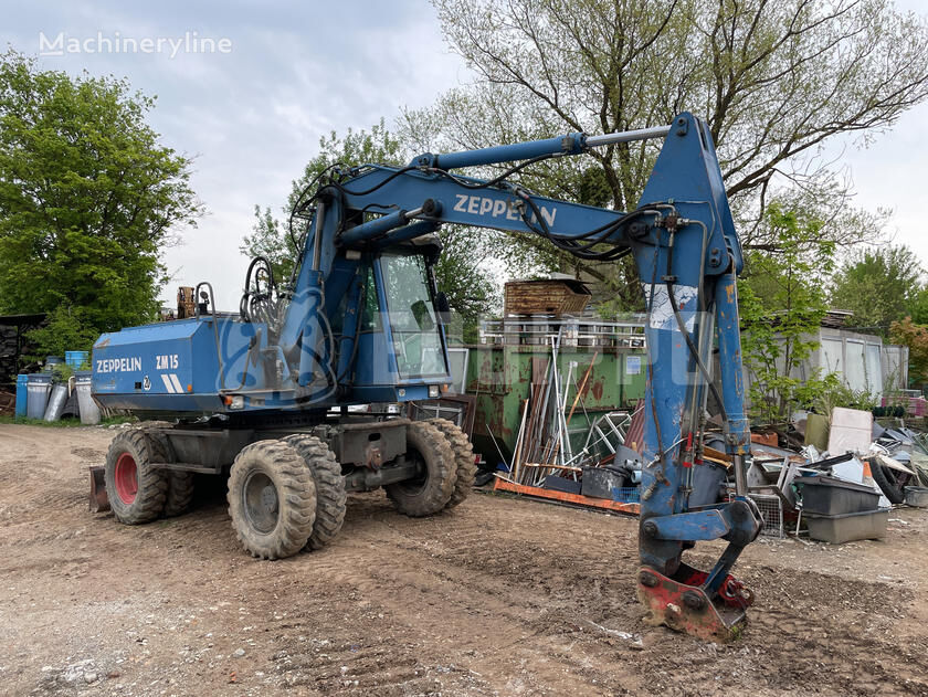
[[[426,106],[468,80],[426,0],[89,4],[43,1],[12,10],[10,3],[0,47],[36,55],[61,33],[65,41],[95,39],[97,32],[110,39],[118,32],[155,41],[228,40],[221,44],[226,52],[179,50],[171,56],[171,45],[162,43],[152,53],[40,56],[43,67],[125,76],[158,95],[150,123],[166,144],[196,156],[192,183],[209,212],[196,230],[184,231],[182,246],[167,251],[168,305],[178,285],[211,281],[219,306],[238,307],[246,266],[239,245],[251,230],[254,205],[280,208],[320,136],[369,128],[381,117],[389,124],[401,107]],[[897,6],[928,13],[922,0]],[[926,122],[922,105],[868,149],[847,142],[833,151],[853,178],[856,204],[892,208],[889,232],[928,266],[920,205]]]

